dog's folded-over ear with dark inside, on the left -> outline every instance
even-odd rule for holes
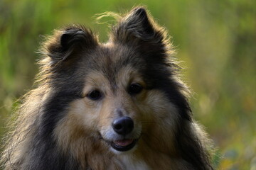
[[[97,37],[82,26],[55,30],[43,45],[43,51],[53,62],[69,60],[75,53],[90,50],[97,45]]]

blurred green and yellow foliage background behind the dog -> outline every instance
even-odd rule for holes
[[[218,147],[217,169],[255,170],[255,0],[0,0],[0,135],[14,101],[31,89],[42,35],[82,23],[104,42],[109,28],[95,22],[95,13],[139,4],[172,36],[193,89],[193,113]]]

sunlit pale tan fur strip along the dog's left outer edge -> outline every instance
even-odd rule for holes
[[[48,89],[48,91],[50,91],[50,89]],[[11,145],[9,145],[1,155],[2,162],[9,159],[9,157],[12,158],[10,162],[6,164],[6,169],[11,170],[13,169],[12,164],[26,161],[23,160],[23,158],[28,157],[26,151],[31,145],[32,134],[36,130],[33,128],[33,125],[36,124],[37,113],[41,108],[41,102],[48,97],[48,91],[43,91],[43,88],[38,88],[23,96],[23,98],[26,98],[26,101],[24,101],[23,105],[18,109],[23,115],[18,115],[16,122],[11,125],[11,128],[17,127],[16,130],[9,132],[9,139],[7,138],[9,141],[6,142],[10,142]],[[22,124],[20,124],[21,122]]]

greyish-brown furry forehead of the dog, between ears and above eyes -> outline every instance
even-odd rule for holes
[[[117,86],[121,79],[128,81],[134,74],[139,75],[139,63],[142,59],[131,47],[116,44],[104,44],[90,54],[86,60],[89,72],[97,72],[107,79],[112,87]],[[124,79],[123,79],[124,78]]]

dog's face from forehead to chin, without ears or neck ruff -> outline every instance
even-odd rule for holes
[[[153,89],[152,82],[144,77],[146,63],[139,55],[133,47],[114,43],[95,49],[90,55],[83,98],[70,107],[69,114],[81,123],[79,126],[99,135],[114,152],[133,149],[144,135],[161,139],[151,131],[176,120],[176,109],[166,95]]]

